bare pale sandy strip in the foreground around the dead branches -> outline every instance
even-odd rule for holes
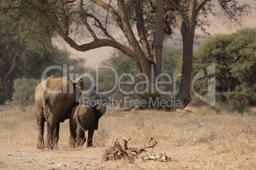
[[[206,146],[205,146],[206,147]],[[128,160],[109,160],[104,162],[106,148],[87,148],[80,150],[38,150],[35,146],[10,147],[0,146],[1,169],[208,169],[204,146],[155,148],[153,153],[164,153],[171,157],[171,162],[146,160],[141,154],[135,163]],[[150,151],[151,149],[148,149]]]

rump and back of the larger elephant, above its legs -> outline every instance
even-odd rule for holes
[[[35,103],[37,110],[44,112],[46,122],[64,122],[75,105],[73,82],[69,77],[49,77],[36,88]]]

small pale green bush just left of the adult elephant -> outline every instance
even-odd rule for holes
[[[40,79],[15,79],[13,82],[13,103],[15,105],[27,105],[34,103],[34,91],[38,86]]]

